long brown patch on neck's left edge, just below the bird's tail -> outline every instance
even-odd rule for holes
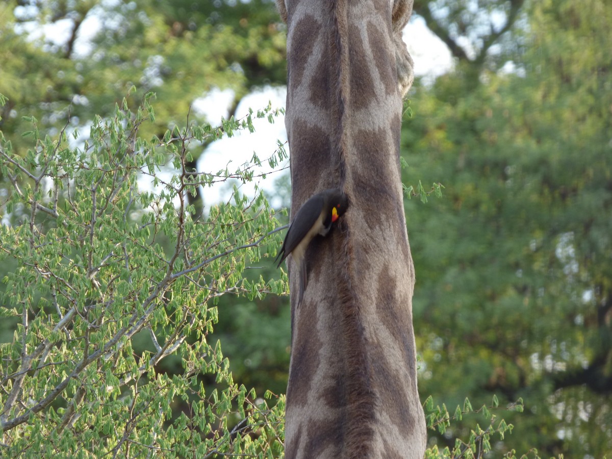
[[[308,394],[312,392],[313,376],[321,364],[318,351],[323,345],[317,331],[319,318],[315,304],[305,301],[299,312],[295,308],[291,310],[291,316],[292,321],[297,316],[300,323],[307,324],[307,327],[301,327],[302,330],[310,330],[308,334],[298,334],[291,345],[291,369],[287,384],[287,401],[303,407],[308,404]],[[297,327],[300,328],[299,325]]]

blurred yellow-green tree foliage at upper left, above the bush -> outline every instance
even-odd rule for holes
[[[75,127],[112,116],[134,85],[140,95],[157,96],[157,121],[141,126],[147,138],[184,125],[193,102],[215,88],[233,92],[234,114],[248,92],[285,83],[280,23],[271,0],[3,2],[0,93],[9,103],[0,128],[14,143],[13,135],[27,129],[21,117],[34,115],[41,130],[59,131],[69,103]],[[59,24],[67,29],[65,43],[26,33]],[[135,111],[138,99],[127,103]]]

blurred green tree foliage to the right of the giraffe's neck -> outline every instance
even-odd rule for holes
[[[406,203],[417,273],[421,394],[460,405],[522,398],[508,449],[612,450],[612,19],[606,2],[534,2],[515,72],[461,62],[413,95]],[[524,25],[524,24],[523,24]],[[528,30],[529,33],[524,32]],[[453,435],[467,438],[471,427]],[[437,435],[451,449],[452,437]],[[497,457],[497,456],[494,456]]]

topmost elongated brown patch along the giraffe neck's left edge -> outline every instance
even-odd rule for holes
[[[297,21],[293,35],[291,35],[291,53],[287,54],[287,68],[291,69],[291,89],[302,84],[308,58],[312,56],[316,40],[313,38],[321,30],[321,24],[312,15],[305,14]]]

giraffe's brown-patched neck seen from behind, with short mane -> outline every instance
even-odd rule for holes
[[[412,0],[279,0],[278,9],[288,32],[291,214],[326,188],[343,188],[351,202],[307,248],[299,307],[288,263],[285,457],[422,458],[399,162],[413,67],[401,29]]]

